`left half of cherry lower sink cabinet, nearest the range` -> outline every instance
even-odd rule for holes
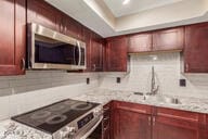
[[[151,106],[114,102],[112,139],[151,139]]]

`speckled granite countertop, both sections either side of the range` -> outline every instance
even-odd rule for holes
[[[170,96],[166,96],[170,97]],[[172,96],[171,96],[172,97]],[[178,98],[178,97],[174,97]],[[144,100],[143,96],[136,96],[131,91],[115,91],[115,90],[94,90],[81,96],[73,97],[70,99],[91,101],[101,104],[106,104],[112,100],[133,102],[139,104],[155,105],[161,108],[170,108],[177,110],[184,110],[191,112],[208,114],[208,100],[195,98],[181,98],[181,104],[162,103],[158,100]],[[18,124],[11,119],[0,122],[0,139],[52,139],[52,136],[47,135],[37,129]]]

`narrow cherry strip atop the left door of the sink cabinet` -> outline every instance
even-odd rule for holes
[[[151,105],[115,101],[114,102],[114,108],[115,109],[127,110],[127,111],[131,111],[131,112],[136,112],[136,113],[152,114],[152,106]]]

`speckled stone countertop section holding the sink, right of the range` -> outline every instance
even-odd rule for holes
[[[162,96],[162,97],[179,98],[181,104],[164,103],[162,101],[158,101],[155,99],[144,100],[143,96],[134,94],[132,91],[118,91],[118,90],[117,91],[98,90],[98,91],[92,91],[92,92],[81,94],[78,97],[74,97],[73,99],[98,102],[98,103],[102,103],[102,104],[105,104],[105,103],[109,102],[110,100],[118,100],[118,101],[133,102],[133,103],[139,103],[139,104],[147,104],[147,105],[155,105],[155,106],[161,106],[161,108],[170,108],[170,109],[208,114],[208,100],[207,99],[182,98],[182,97],[177,97],[177,96]]]

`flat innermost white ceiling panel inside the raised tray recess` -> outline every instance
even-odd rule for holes
[[[115,17],[126,16],[180,1],[182,0],[130,0],[128,4],[123,5],[123,0],[104,0]]]

